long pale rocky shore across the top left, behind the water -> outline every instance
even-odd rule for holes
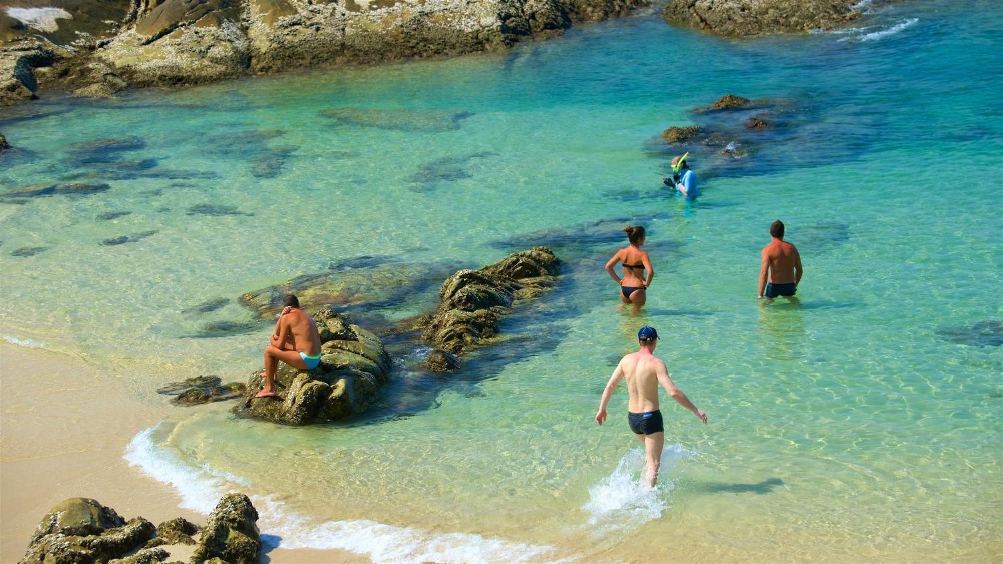
[[[76,0],[0,13],[0,104],[505,48],[649,0]],[[20,18],[20,19],[19,19]]]

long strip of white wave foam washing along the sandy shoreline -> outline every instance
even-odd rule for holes
[[[158,447],[152,434],[160,424],[136,434],[125,448],[125,460],[151,478],[170,484],[181,495],[181,507],[208,515],[233,485],[250,487],[242,477],[210,467],[194,468],[166,449]],[[364,554],[374,562],[530,562],[554,552],[549,546],[527,545],[480,535],[437,535],[394,527],[375,521],[315,523],[287,511],[282,502],[251,495],[258,507],[263,542],[272,548],[340,549]]]

